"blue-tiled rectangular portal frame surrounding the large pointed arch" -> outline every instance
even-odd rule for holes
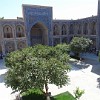
[[[52,7],[23,5],[23,15],[26,27],[28,45],[30,45],[30,31],[38,22],[44,24],[48,29],[48,45],[52,45]]]

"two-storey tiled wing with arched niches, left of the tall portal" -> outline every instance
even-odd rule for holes
[[[23,20],[0,20],[0,53],[4,55],[27,46]]]

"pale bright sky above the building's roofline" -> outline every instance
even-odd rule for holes
[[[22,4],[53,7],[53,19],[81,19],[97,15],[98,0],[0,0],[0,17],[23,17]]]

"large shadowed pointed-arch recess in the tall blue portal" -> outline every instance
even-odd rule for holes
[[[33,25],[30,31],[30,44],[31,46],[36,44],[48,44],[48,29],[44,24],[38,22]]]

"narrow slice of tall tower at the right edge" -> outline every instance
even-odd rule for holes
[[[97,14],[97,50],[100,50],[100,0],[98,0],[98,14]]]

